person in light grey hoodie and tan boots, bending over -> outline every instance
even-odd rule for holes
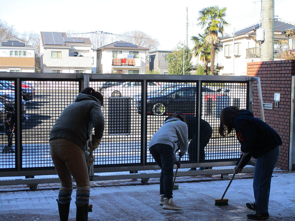
[[[149,143],[150,154],[160,166],[160,205],[165,210],[181,210],[172,200],[173,166],[180,168],[176,150],[180,146],[179,157],[189,148],[188,128],[186,118],[176,112],[172,118],[166,119],[160,129],[153,135]]]

